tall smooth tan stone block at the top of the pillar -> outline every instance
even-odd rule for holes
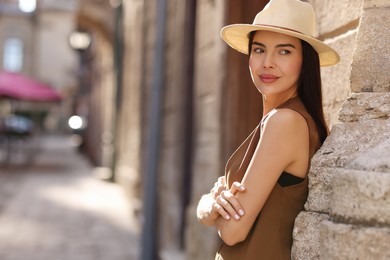
[[[354,92],[390,91],[390,8],[363,12],[353,57],[351,88]],[[373,39],[375,39],[373,41]]]

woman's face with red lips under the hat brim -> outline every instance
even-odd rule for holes
[[[249,70],[263,96],[294,96],[301,67],[300,39],[275,32],[256,32],[249,56]]]

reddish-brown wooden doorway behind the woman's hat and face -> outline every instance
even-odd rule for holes
[[[256,14],[269,0],[229,1],[226,24],[253,22]],[[222,161],[244,141],[262,116],[261,94],[252,83],[248,69],[248,56],[229,48],[227,78],[222,103]]]

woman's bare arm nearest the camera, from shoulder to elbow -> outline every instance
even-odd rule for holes
[[[305,119],[290,109],[270,115],[242,180],[246,191],[235,195],[245,215],[240,221],[215,220],[222,240],[228,245],[243,241],[280,174],[287,171],[304,177],[308,158],[309,132]]]

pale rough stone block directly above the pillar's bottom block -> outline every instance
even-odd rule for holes
[[[390,173],[344,170],[333,179],[332,191],[333,219],[370,226],[390,225]]]

